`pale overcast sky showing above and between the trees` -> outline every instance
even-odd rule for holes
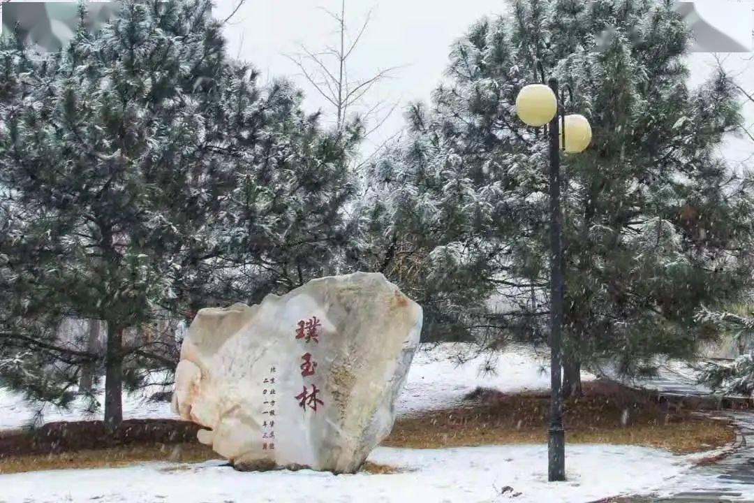
[[[726,23],[730,27],[730,20],[715,19],[721,12],[721,1],[697,2],[701,4],[698,11],[721,28]],[[220,0],[216,17],[227,17],[235,4],[235,0]],[[428,100],[442,78],[452,42],[480,17],[500,14],[504,4],[504,0],[348,0],[346,18],[353,29],[360,27],[372,9],[369,30],[360,42],[360,51],[354,54],[351,71],[368,77],[380,69],[400,66],[393,78],[383,82],[374,99],[403,105]],[[339,5],[340,0],[247,0],[226,28],[231,54],[253,63],[265,78],[293,76],[305,90],[308,109],[326,108],[326,102],[285,54],[296,53],[299,44],[312,50],[334,44],[335,26],[321,8],[337,10]],[[744,72],[742,81],[751,83],[749,90],[754,90],[754,62],[746,64],[746,56],[731,54],[727,65],[733,72]],[[694,54],[689,61],[691,84],[703,81],[713,62],[710,54]],[[754,106],[746,106],[745,112],[748,123],[754,123]],[[372,136],[369,145],[381,143],[402,125],[399,110]],[[731,140],[725,148],[731,161],[742,161],[752,152],[750,141]]]

